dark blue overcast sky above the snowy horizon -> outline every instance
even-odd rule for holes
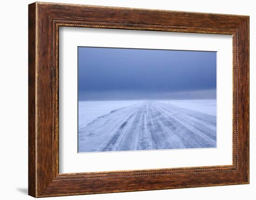
[[[216,52],[78,47],[78,97],[216,98]]]

